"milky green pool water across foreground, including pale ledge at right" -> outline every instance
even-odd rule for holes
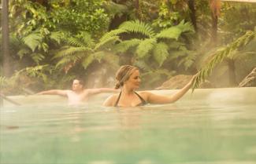
[[[0,163],[256,163],[256,89],[195,92],[176,104],[125,109],[100,100],[6,105]]]

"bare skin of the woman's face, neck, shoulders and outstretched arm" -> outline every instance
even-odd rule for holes
[[[187,83],[184,88],[178,90],[176,93],[174,93],[172,96],[161,96],[154,93],[150,93],[148,91],[141,91],[138,92],[140,97],[143,97],[144,100],[147,101],[147,103],[150,104],[170,104],[174,103],[176,100],[179,100],[181,97],[184,96],[185,93],[187,93],[188,89],[191,88],[192,81],[195,78],[195,76],[191,79],[190,82]],[[141,100],[139,97],[135,94],[135,89],[139,88],[141,80],[139,78],[139,70],[135,70],[132,75],[128,78],[126,82],[124,82],[124,86],[122,88],[122,93],[120,100],[118,102],[119,107],[136,107],[138,104],[141,103]],[[119,94],[112,95],[108,97],[105,102],[103,103],[103,106],[106,107],[114,107],[115,103],[117,102]]]

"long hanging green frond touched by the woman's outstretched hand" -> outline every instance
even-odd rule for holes
[[[256,31],[247,31],[247,33],[240,38],[236,39],[236,41],[232,42],[230,45],[226,46],[226,48],[221,49],[210,56],[209,62],[202,67],[202,69],[198,72],[198,75],[195,77],[192,85],[192,89],[194,90],[199,86],[201,82],[203,82],[207,76],[209,76],[213,68],[220,64],[225,57],[232,57],[234,55],[234,51],[239,49],[242,46],[246,46],[251,40],[253,40],[256,36]]]

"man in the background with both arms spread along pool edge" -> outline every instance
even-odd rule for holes
[[[98,88],[98,89],[84,89],[83,82],[80,79],[74,79],[72,83],[72,90],[62,90],[62,89],[51,89],[40,93],[50,94],[50,95],[60,95],[62,97],[68,97],[69,104],[81,104],[86,102],[89,97],[98,93],[117,93],[120,92],[119,89],[110,88]]]

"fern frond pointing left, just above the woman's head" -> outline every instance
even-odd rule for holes
[[[117,44],[117,46],[114,46],[113,51],[117,53],[124,53],[128,51],[128,49],[138,46],[140,42],[142,42],[140,39],[132,38],[131,40],[123,41]]]

